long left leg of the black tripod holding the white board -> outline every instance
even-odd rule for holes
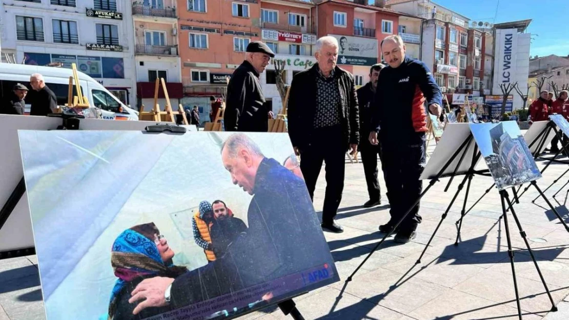
[[[387,234],[384,236],[384,238],[382,238],[380,240],[380,242],[378,242],[376,244],[376,246],[372,249],[371,252],[369,252],[368,256],[365,257],[364,261],[362,261],[360,263],[360,265],[358,265],[358,267],[354,270],[354,272],[352,272],[352,275],[350,275],[348,277],[348,279],[346,279],[346,282],[350,282],[352,281],[352,277],[354,275],[356,275],[356,273],[358,272],[358,270],[360,270],[360,268],[362,267],[362,265],[365,264],[366,261],[368,261],[369,257],[373,255],[373,252],[375,252],[379,247],[381,247],[382,244],[384,244],[385,239],[389,238],[389,236],[391,234],[393,234],[393,232],[395,230],[397,230],[397,227],[401,224],[401,222],[403,222],[403,220],[405,220],[405,218],[407,218],[407,215],[409,215],[411,213],[411,211],[413,211],[413,209],[415,208],[415,206],[418,205],[418,203],[420,202],[421,198],[424,197],[424,195],[428,192],[429,189],[431,189],[431,187],[433,185],[435,185],[435,183],[437,181],[439,181],[440,178],[442,178],[443,176],[453,176],[453,174],[447,174],[445,175],[444,173],[447,171],[447,168],[450,167],[450,165],[453,163],[453,161],[456,159],[456,157],[462,152],[463,155],[461,156],[460,160],[459,160],[459,164],[456,166],[455,168],[455,173],[456,170],[460,167],[460,163],[462,162],[462,159],[464,159],[464,156],[466,154],[466,152],[468,151],[468,147],[470,145],[470,143],[473,140],[473,136],[472,134],[469,134],[468,137],[464,140],[464,142],[460,145],[459,148],[456,149],[455,153],[453,153],[453,155],[450,157],[450,159],[448,159],[448,161],[446,162],[446,164],[443,165],[443,167],[439,170],[439,172],[436,174],[436,176],[434,178],[431,179],[431,181],[429,181],[429,184],[427,185],[427,187],[423,190],[423,192],[419,195],[419,197],[417,198],[417,200],[415,200],[415,202],[413,203],[413,205],[411,205],[411,207],[409,208],[409,210],[406,211],[405,214],[402,215],[402,217],[399,219],[399,221],[397,221],[397,223],[395,224],[395,226],[391,229],[391,231],[387,232]],[[448,186],[447,186],[448,188]]]

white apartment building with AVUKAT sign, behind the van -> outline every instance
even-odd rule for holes
[[[0,3],[2,61],[71,68],[75,63],[126,105],[135,104],[130,3],[117,0],[5,0]],[[67,86],[52,88],[67,97]],[[106,93],[95,105],[112,109]]]

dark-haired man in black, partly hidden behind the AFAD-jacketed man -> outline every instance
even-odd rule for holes
[[[377,78],[380,71],[385,66],[374,64],[369,69],[369,82],[357,90],[357,101],[360,106],[360,136],[369,136],[371,131],[372,111],[370,105],[373,102],[373,95],[376,94]],[[368,184],[369,200],[364,203],[364,207],[374,207],[381,205],[380,182],[377,180],[377,156],[381,157],[380,144],[374,146],[368,139],[360,140],[361,162],[364,164],[365,182]]]

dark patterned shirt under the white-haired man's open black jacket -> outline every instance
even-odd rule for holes
[[[316,112],[314,127],[332,127],[340,124],[340,88],[338,88],[334,70],[328,77],[318,69],[316,77]]]

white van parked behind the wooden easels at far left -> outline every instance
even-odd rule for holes
[[[15,84],[23,84],[29,89],[26,96],[26,114],[29,114],[31,102],[37,94],[30,85],[30,76],[33,73],[42,74],[46,85],[57,97],[57,105],[64,106],[67,103],[69,77],[73,76],[71,69],[8,63],[0,63],[0,101],[6,101],[11,97]],[[99,82],[79,70],[77,76],[83,95],[89,100],[90,105],[101,109],[104,119],[138,120],[138,111],[125,106]],[[77,95],[75,86],[73,95]]]

